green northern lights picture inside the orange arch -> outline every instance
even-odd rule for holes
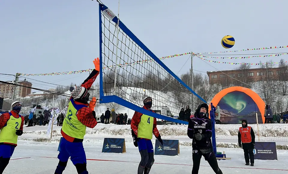
[[[241,120],[247,119],[248,124],[256,123],[256,113],[258,122],[262,122],[261,113],[253,99],[241,91],[232,91],[224,95],[219,103],[223,124],[239,124]]]

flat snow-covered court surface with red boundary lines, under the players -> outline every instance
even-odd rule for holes
[[[97,174],[134,174],[140,161],[138,148],[132,141],[126,141],[126,153],[101,153],[104,139],[93,142],[87,140],[83,143],[86,152],[87,169],[89,173]],[[153,141],[152,141],[153,142]],[[155,141],[154,141],[155,142]],[[154,144],[155,146],[155,144]],[[19,140],[12,160],[8,164],[5,174],[29,173],[29,174],[51,174],[54,173],[58,164],[57,159],[58,142],[39,143]],[[277,160],[255,160],[254,167],[245,166],[244,153],[242,149],[217,148],[218,152],[227,154],[231,160],[218,161],[220,169],[227,173],[262,173],[262,174],[286,174],[288,173],[287,161],[288,151],[277,150]],[[192,148],[180,146],[179,156],[155,155],[155,163],[150,173],[155,174],[185,174],[192,170]],[[209,164],[202,158],[199,174],[214,173]],[[21,167],[21,169],[19,169]],[[76,173],[72,162],[69,161],[64,174]]]

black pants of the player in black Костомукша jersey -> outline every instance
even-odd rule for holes
[[[192,160],[193,160],[192,174],[198,174],[202,156],[209,163],[209,165],[211,166],[211,168],[214,170],[216,174],[222,174],[222,171],[218,167],[217,159],[216,159],[214,152],[211,152],[208,154],[201,154],[201,152],[195,153],[194,151],[192,154]]]

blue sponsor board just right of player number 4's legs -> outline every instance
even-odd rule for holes
[[[163,140],[163,146],[159,140],[155,141],[154,155],[176,156],[180,154],[179,140]]]

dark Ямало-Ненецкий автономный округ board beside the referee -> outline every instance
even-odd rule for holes
[[[253,149],[256,160],[277,160],[275,142],[255,142]]]

